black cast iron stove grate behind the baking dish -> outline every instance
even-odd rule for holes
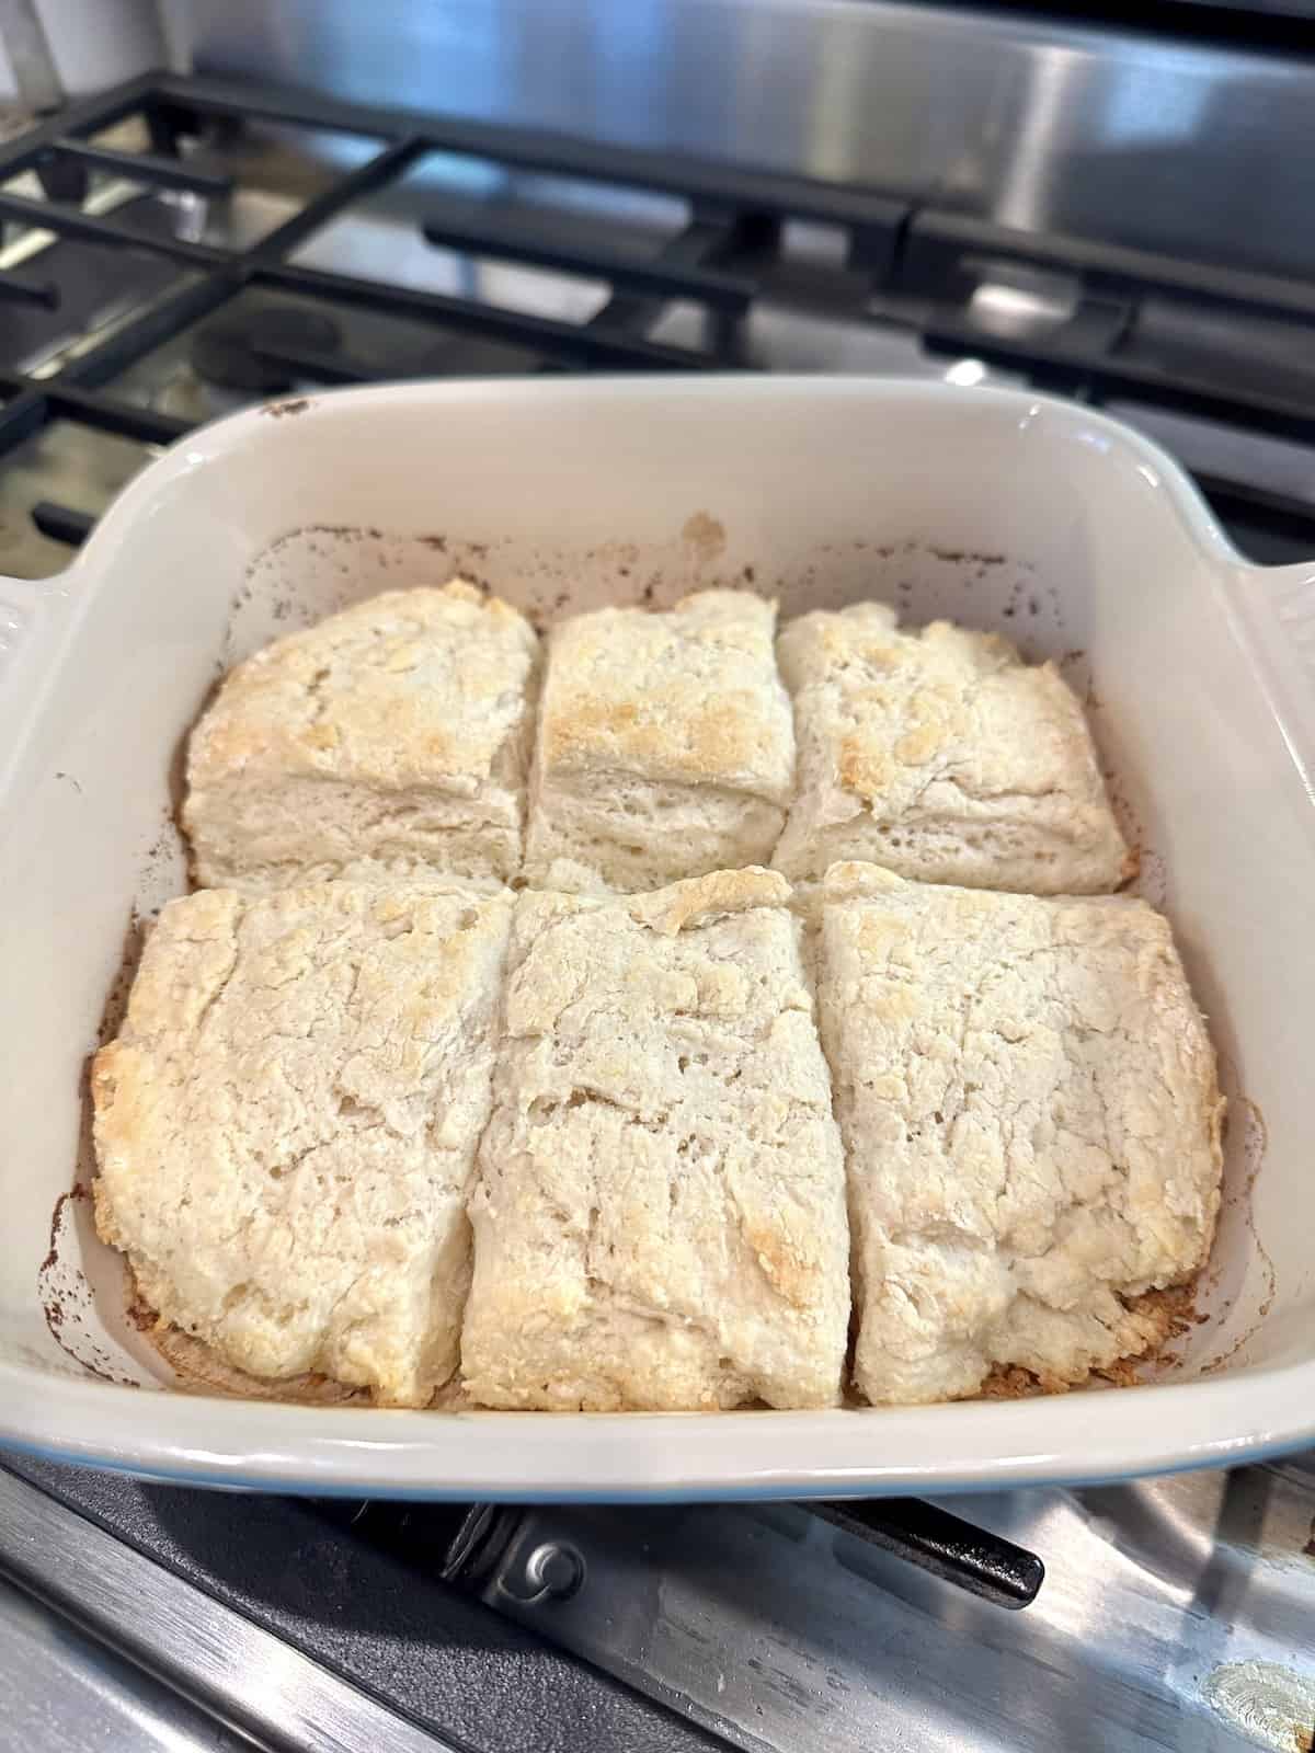
[[[151,153],[116,153],[89,137],[130,116],[144,117]],[[245,249],[221,249],[172,235],[146,235],[132,223],[86,212],[79,203],[91,172],[114,172],[146,189],[223,196],[231,179],[196,168],[179,138],[203,126],[240,121],[333,130],[373,138],[379,151],[314,195],[296,214]],[[682,231],[649,259],[603,245],[528,235],[503,217],[430,214],[421,231],[435,245],[484,258],[605,280],[610,296],[586,323],[517,312],[435,291],[394,287],[289,259],[312,233],[365,195],[402,177],[426,153],[466,154],[503,167],[675,195],[689,203]],[[1271,436],[1315,442],[1315,400],[1273,384],[1227,386],[1199,370],[1175,370],[1133,358],[1126,340],[1145,300],[1169,296],[1213,310],[1280,323],[1315,319],[1315,286],[1269,273],[1180,261],[1150,251],[1085,238],[1036,235],[913,203],[898,195],[763,174],[679,154],[600,149],[524,128],[482,121],[416,117],[330,96],[267,91],[214,79],[147,74],[79,103],[0,145],[0,184],[33,170],[46,200],[0,188],[0,228],[40,226],[63,238],[130,247],[177,263],[181,287],[67,361],[51,377],[0,372],[0,454],[46,422],[67,419],[144,444],[170,444],[191,422],[116,398],[121,372],[170,337],[219,312],[247,287],[302,295],[331,312],[359,309],[431,323],[472,345],[484,340],[524,349],[540,370],[740,370],[743,323],[756,302],[784,300],[817,316],[896,324],[931,352],[971,354],[1019,373],[1038,389],[1091,403],[1140,405],[1220,421]],[[440,205],[440,203],[435,203]],[[784,226],[805,221],[838,230],[845,259],[835,270],[787,273]],[[1005,340],[971,316],[980,265],[1063,272],[1080,298],[1043,340]],[[0,303],[51,307],[58,289],[18,273],[0,275]],[[649,338],[665,309],[701,310],[705,345]],[[365,382],[370,366],[337,349],[272,345],[267,363],[307,382]],[[1247,482],[1201,479],[1217,510],[1262,533],[1315,542],[1315,508]],[[33,508],[42,533],[79,542],[91,519],[65,505]]]

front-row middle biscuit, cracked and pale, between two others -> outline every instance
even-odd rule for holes
[[[787,884],[515,905],[461,1360],[486,1406],[833,1406],[840,1136]]]

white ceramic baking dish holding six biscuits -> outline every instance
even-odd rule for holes
[[[999,628],[1087,692],[1233,1101],[1205,1320],[1150,1385],[885,1411],[514,1415],[170,1392],[93,1234],[84,1066],[182,887],[217,673],[463,570],[544,619],[714,582]],[[0,580],[0,1441],[224,1485],[459,1497],[1089,1481],[1315,1441],[1315,563],[1261,570],[1080,407],[831,379],[435,384],[224,421],[67,573]],[[110,1001],[107,1006],[107,994]]]

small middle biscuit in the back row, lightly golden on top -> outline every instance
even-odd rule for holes
[[[668,614],[601,608],[554,628],[531,887],[656,889],[771,857],[794,780],[775,619],[750,593],[701,591]]]

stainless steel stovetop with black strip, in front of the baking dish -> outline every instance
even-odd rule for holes
[[[314,1753],[1310,1748],[1310,1462],[949,1508],[1045,1557],[1033,1606],[789,1504],[538,1508],[454,1585],[444,1506],[18,1462],[0,1471],[0,1744],[245,1744],[223,1723]]]

